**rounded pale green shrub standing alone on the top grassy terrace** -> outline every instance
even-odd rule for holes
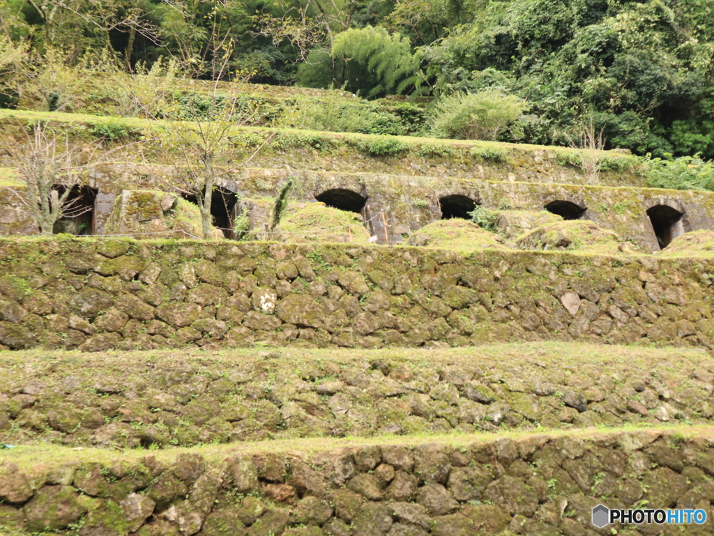
[[[525,101],[497,91],[451,95],[436,104],[432,132],[437,138],[496,140],[525,109]]]

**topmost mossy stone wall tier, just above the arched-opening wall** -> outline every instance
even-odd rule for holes
[[[163,151],[149,135],[161,121],[138,118],[90,116],[77,113],[42,113],[0,110],[0,123],[8,139],[21,138],[32,121],[54,121],[79,141],[96,138],[98,126],[111,123],[131,132],[136,146],[122,146],[113,153],[116,161],[161,164]],[[411,136],[373,136],[355,133],[305,131],[291,128],[236,127],[236,158],[251,157],[256,168],[296,168],[313,171],[358,172],[481,178],[485,180],[541,183],[588,183],[580,166],[578,149],[533,146],[493,141],[436,140]],[[126,138],[120,143],[124,144]],[[600,181],[608,186],[645,186],[642,161],[618,151],[598,151]],[[0,156],[0,166],[13,166],[12,158]],[[135,188],[132,186],[131,188]]]

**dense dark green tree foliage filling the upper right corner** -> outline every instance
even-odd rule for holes
[[[425,50],[438,91],[528,101],[524,139],[592,116],[608,147],[714,156],[714,18],[705,0],[493,1]]]

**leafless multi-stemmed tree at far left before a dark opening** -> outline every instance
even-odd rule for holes
[[[106,151],[97,140],[89,146],[70,143],[69,137],[36,124],[19,148],[8,148],[23,188],[5,187],[35,219],[41,235],[51,235],[60,218],[76,218],[91,208],[72,196],[84,184],[84,175],[117,148]]]

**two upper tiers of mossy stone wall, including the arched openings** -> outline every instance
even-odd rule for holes
[[[349,145],[338,151],[339,156],[309,146],[276,145],[253,158],[248,168],[229,173],[213,191],[217,236],[246,238],[247,231],[248,237],[266,238],[272,207],[265,200],[274,198],[290,178],[296,183],[290,193],[293,205],[321,202],[358,213],[372,241],[381,244],[406,243],[414,232],[442,218],[471,220],[476,207],[498,213],[494,231],[513,247],[518,247],[524,231],[543,225],[544,211],[564,220],[592,221],[642,253],[656,253],[683,233],[712,228],[712,194],[644,188],[637,161],[621,153],[603,156],[613,161],[613,169],[601,172],[593,185],[568,163],[568,150],[563,148],[508,146],[499,149],[498,158],[488,159],[478,146],[463,142],[449,148],[446,156],[435,156],[418,145],[388,156],[370,156]],[[11,166],[11,158],[4,157],[2,164]],[[171,188],[172,176],[176,169],[159,162],[101,164],[86,177],[81,191],[88,210],[81,218],[65,218],[56,232],[151,238],[147,233],[157,231],[145,227],[155,221],[166,236],[197,236],[189,231],[190,224],[174,231],[173,214],[159,215],[148,198],[146,206],[134,201],[131,211],[123,208],[127,196],[140,199],[141,192],[149,191],[195,203],[192,196]],[[21,197],[22,188],[14,188],[13,195],[0,201],[0,233],[5,236],[34,233]],[[508,224],[514,217],[522,222],[518,228]],[[159,223],[164,218],[168,219]],[[238,231],[236,223],[241,224]],[[118,232],[129,228],[134,231]]]

